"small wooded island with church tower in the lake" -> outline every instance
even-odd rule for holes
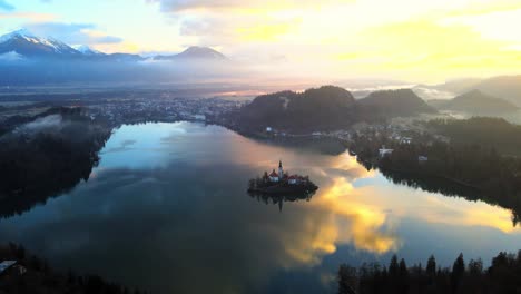
[[[282,160],[278,161],[278,173],[275,168],[268,175],[264,171],[262,177],[249,180],[248,193],[268,195],[307,195],[314,193],[318,187],[309,180],[308,176],[289,175],[284,173]]]

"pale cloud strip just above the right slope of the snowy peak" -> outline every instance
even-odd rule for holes
[[[98,31],[92,23],[31,22],[26,28],[36,35],[48,36],[66,43],[100,45],[120,43],[122,39]]]

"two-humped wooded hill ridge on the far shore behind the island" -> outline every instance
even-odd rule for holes
[[[259,96],[229,114],[230,122],[227,125],[247,133],[262,131],[266,127],[309,133],[435,111],[412,90],[379,91],[355,100],[343,88],[323,86],[304,92],[281,91]]]

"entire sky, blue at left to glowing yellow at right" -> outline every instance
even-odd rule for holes
[[[106,52],[208,46],[337,79],[440,82],[521,68],[521,0],[0,0],[0,33],[19,28]]]

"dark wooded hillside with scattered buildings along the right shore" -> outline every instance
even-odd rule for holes
[[[448,140],[402,144],[360,136],[350,149],[366,168],[379,168],[396,184],[511,209],[515,226],[521,219],[521,158],[512,155],[521,150],[521,126],[481,117],[426,126]],[[382,157],[383,145],[393,151]]]

